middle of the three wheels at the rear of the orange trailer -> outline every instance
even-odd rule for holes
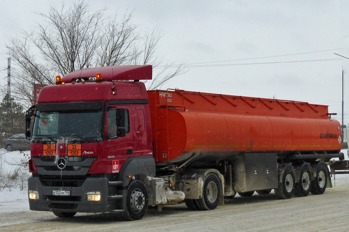
[[[299,176],[298,183],[296,184],[295,195],[297,197],[306,197],[311,190],[311,167],[309,163],[303,163],[297,170],[297,176]]]

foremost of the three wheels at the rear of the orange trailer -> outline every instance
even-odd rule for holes
[[[295,192],[296,173],[294,167],[290,164],[281,169],[278,178],[277,189],[274,189],[275,195],[279,199],[290,199]]]

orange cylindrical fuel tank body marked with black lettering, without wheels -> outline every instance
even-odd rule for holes
[[[328,106],[190,92],[147,91],[157,163],[226,160],[242,152],[339,151],[341,126]]]

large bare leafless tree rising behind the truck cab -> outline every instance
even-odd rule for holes
[[[162,31],[142,30],[132,23],[132,14],[121,18],[104,15],[105,9],[93,11],[84,1],[66,6],[51,4],[38,13],[44,23],[21,36],[9,38],[8,53],[19,66],[12,74],[12,95],[27,104],[32,102],[33,84],[53,84],[56,75],[97,66],[162,63],[157,44]],[[174,71],[169,65],[154,72],[149,89],[160,87],[172,77],[185,72],[183,65]],[[5,90],[3,90],[5,91]]]

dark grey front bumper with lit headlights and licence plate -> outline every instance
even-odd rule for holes
[[[38,200],[29,199],[30,210],[104,213],[112,211],[108,203],[108,179],[106,177],[88,177],[79,187],[46,186],[38,176],[28,178],[28,190],[39,192]],[[70,196],[54,196],[53,190],[69,190]],[[101,192],[101,200],[87,200],[87,192]]]

